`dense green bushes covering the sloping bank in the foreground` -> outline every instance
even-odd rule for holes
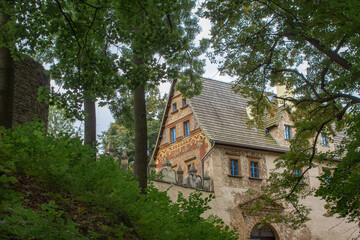
[[[172,203],[151,184],[78,138],[45,133],[37,121],[0,129],[1,239],[237,239],[216,217],[201,218],[208,198]]]

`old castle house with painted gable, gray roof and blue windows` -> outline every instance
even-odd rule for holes
[[[293,230],[285,224],[259,227],[261,216],[248,215],[246,191],[265,184],[274,160],[289,149],[288,140],[295,134],[290,115],[277,106],[263,129],[249,128],[247,100],[233,92],[231,84],[203,79],[199,96],[185,99],[172,84],[150,168],[163,175],[154,184],[176,199],[202,189],[204,196],[215,195],[212,209],[232,227],[240,238],[257,240],[351,239],[359,234],[355,223],[325,217],[325,202],[316,197],[305,199],[312,208],[305,228]],[[281,91],[281,89],[280,89]],[[270,102],[277,104],[274,99]],[[341,136],[333,141],[322,139],[321,151],[333,150]],[[310,187],[318,187],[322,168],[312,168],[305,175]],[[350,230],[349,230],[350,229]],[[354,231],[355,229],[355,231]]]

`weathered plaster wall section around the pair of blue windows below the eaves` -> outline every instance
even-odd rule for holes
[[[229,157],[239,159],[240,177],[231,176],[229,169]],[[259,160],[260,178],[250,178],[249,158]],[[238,227],[241,234],[245,234],[248,223],[245,223],[243,212],[238,207],[245,201],[245,192],[249,188],[259,189],[268,176],[269,168],[267,162],[273,162],[274,154],[264,154],[260,151],[250,151],[228,146],[216,146],[204,161],[204,169],[211,177],[211,189],[214,190],[216,199],[214,206],[219,217],[226,224]],[[241,217],[241,218],[240,218]],[[242,220],[241,220],[242,219]],[[241,228],[241,229],[240,229]],[[246,239],[246,238],[244,238]]]

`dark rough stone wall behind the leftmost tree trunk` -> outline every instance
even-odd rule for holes
[[[13,124],[23,124],[35,115],[47,124],[49,108],[37,101],[40,86],[50,87],[43,66],[31,58],[15,62]]]

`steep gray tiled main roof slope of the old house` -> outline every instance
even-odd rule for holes
[[[286,151],[264,129],[248,128],[247,100],[234,93],[231,84],[203,79],[203,91],[189,100],[205,134],[216,142],[257,149]]]

